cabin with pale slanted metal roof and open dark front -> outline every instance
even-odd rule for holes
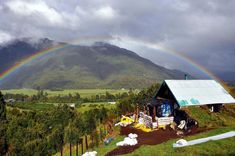
[[[235,99],[215,80],[165,80],[153,100],[147,104],[149,115],[177,116],[183,107],[206,105],[212,112]]]

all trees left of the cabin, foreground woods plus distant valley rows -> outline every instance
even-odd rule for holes
[[[84,113],[78,113],[76,109],[71,109],[67,105],[59,105],[55,109],[45,111],[23,111],[15,107],[6,110],[6,103],[0,93],[0,155],[6,153],[8,155],[53,155],[59,151],[62,155],[66,144],[69,144],[70,154],[75,146],[78,155],[79,145],[83,153],[84,148],[99,145],[107,133],[107,127],[110,127],[110,121],[119,118],[121,114],[133,112],[136,104],[140,107],[144,106],[154,97],[159,87],[159,84],[155,84],[139,93],[132,90],[118,95],[106,93],[105,98],[93,96],[91,99],[94,100],[120,100],[116,109],[108,110],[101,107]],[[7,98],[14,98],[11,96],[5,95]],[[48,94],[42,90],[32,97],[19,95],[17,97],[37,101],[58,98],[58,96],[48,97]],[[58,99],[71,102],[81,97],[79,94],[69,94],[66,98]],[[88,137],[91,140],[90,144],[88,144]],[[83,142],[85,142],[84,145]]]

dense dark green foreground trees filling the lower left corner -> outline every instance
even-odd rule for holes
[[[78,113],[67,105],[47,111],[23,111],[9,108],[0,94],[0,155],[53,155],[63,153],[65,144],[76,146],[83,136],[85,147],[98,146],[105,137],[108,119],[116,116],[115,110],[92,109]],[[102,127],[97,129],[97,127]],[[88,136],[92,143],[88,144]]]

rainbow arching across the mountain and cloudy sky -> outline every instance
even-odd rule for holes
[[[163,46],[161,44],[157,44],[157,43],[153,43],[153,42],[146,42],[146,41],[142,41],[142,40],[137,40],[137,39],[133,39],[133,38],[126,37],[126,36],[113,36],[111,38],[108,38],[108,37],[100,37],[100,38],[99,37],[86,37],[83,40],[79,40],[79,43],[81,41],[85,41],[85,40],[100,41],[100,39],[101,40],[106,40],[106,41],[108,40],[108,41],[111,41],[112,43],[126,42],[126,43],[130,43],[130,44],[135,44],[135,45],[142,45],[142,46],[145,46],[145,47],[148,47],[148,48],[152,48],[152,49],[155,49],[155,50],[160,50],[162,52],[169,53],[170,55],[173,55],[175,57],[178,57],[178,58],[186,61],[187,63],[189,63],[190,65],[192,65],[193,67],[195,67],[196,69],[201,71],[202,73],[209,76],[211,79],[214,79],[214,80],[216,80],[216,81],[218,81],[218,82],[220,82],[224,85],[224,82],[222,80],[220,80],[218,77],[216,77],[208,69],[206,69],[202,65],[200,65],[197,62],[195,62],[194,60],[192,60],[190,57],[184,55],[183,53],[177,52],[176,50],[173,50],[173,49],[170,49],[166,46]],[[78,43],[78,40],[77,40],[77,42],[71,42],[71,43]],[[60,49],[65,48],[66,46],[69,46],[69,45],[70,44],[59,44],[59,45],[53,46],[51,48],[47,48],[47,49],[44,49],[42,51],[36,52],[35,54],[21,60],[20,62],[17,62],[13,66],[11,66],[7,70],[5,70],[4,72],[0,73],[0,84],[3,80],[11,77],[12,75],[14,75],[14,73],[20,71],[25,65],[35,61],[38,58],[41,58],[41,57],[47,55],[48,53],[56,52]]]

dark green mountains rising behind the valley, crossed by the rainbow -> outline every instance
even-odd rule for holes
[[[0,48],[0,72],[37,51],[57,43],[16,40]],[[169,70],[117,46],[97,42],[91,46],[66,44],[55,52],[25,65],[0,83],[9,88],[143,88],[164,79],[182,79],[184,73]]]

